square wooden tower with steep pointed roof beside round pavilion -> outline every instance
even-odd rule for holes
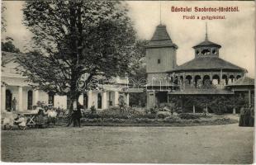
[[[166,26],[156,27],[146,48],[146,73],[148,82],[147,106],[158,106],[168,101],[168,72],[177,67],[176,50]]]

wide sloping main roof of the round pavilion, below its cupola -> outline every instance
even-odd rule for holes
[[[218,57],[201,57],[192,59],[185,64],[182,64],[170,72],[174,71],[186,71],[186,70],[207,70],[207,69],[230,69],[230,70],[240,70],[247,72],[246,69],[241,68],[235,64],[220,59]]]

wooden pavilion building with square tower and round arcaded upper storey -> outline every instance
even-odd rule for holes
[[[244,78],[247,70],[221,59],[221,45],[211,42],[207,32],[205,40],[192,48],[195,58],[178,65],[178,46],[171,40],[166,26],[156,27],[152,39],[146,45],[148,108],[168,103],[174,95],[235,94],[234,90],[230,90],[230,85]],[[251,99],[254,90],[250,87],[249,91]]]

